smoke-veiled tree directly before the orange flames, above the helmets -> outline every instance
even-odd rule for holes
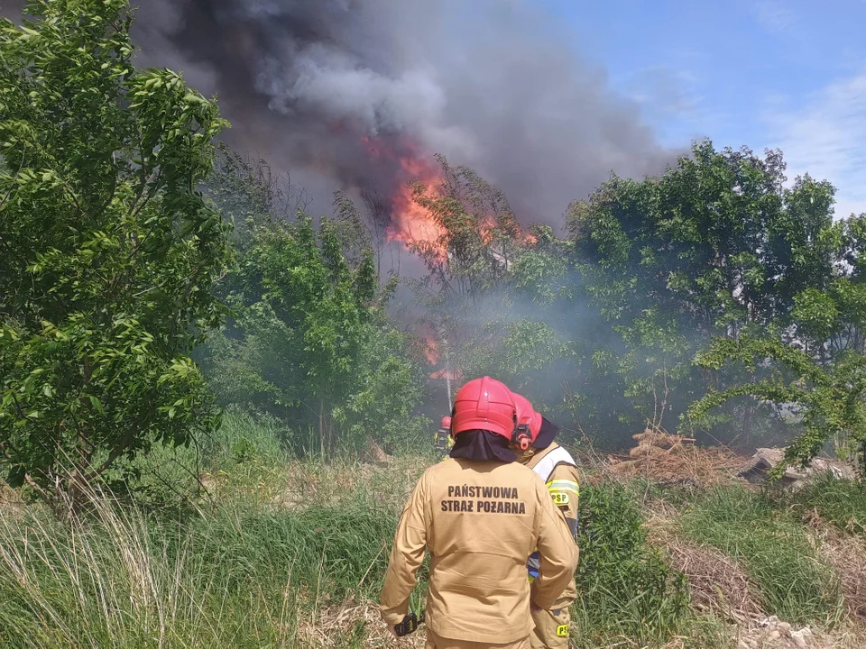
[[[442,183],[413,186],[416,204],[440,236],[410,245],[429,271],[410,285],[426,307],[440,364],[538,395],[540,386],[549,387],[550,364],[573,355],[545,317],[550,314],[542,313],[546,303],[531,304],[524,295],[538,289],[551,301],[557,290],[568,292],[567,268],[552,250],[555,237],[545,227],[525,233],[501,189],[472,169],[452,167],[441,156],[438,161]]]

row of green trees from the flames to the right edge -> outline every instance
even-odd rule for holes
[[[829,183],[805,176],[787,186],[780,152],[761,158],[699,142],[658,178],[614,176],[574,203],[565,241],[543,226],[531,237],[500,228],[506,263],[482,229],[497,223],[488,213],[510,214],[504,197],[443,165],[443,187],[416,187],[447,250],[420,251],[431,276],[419,283],[438,289],[427,294],[435,297],[425,302],[428,317],[465,376],[501,378],[607,445],[628,443],[647,424],[744,443],[806,426],[813,433],[792,451],[803,459],[816,426],[824,440],[856,429],[849,419],[828,432],[817,422],[830,405],[821,415],[814,403],[813,416],[792,415],[780,391],[771,398],[754,388],[752,380],[783,376],[766,359],[746,367],[719,361],[719,351],[715,361],[693,363],[714,339],[722,341],[714,349],[730,354],[737,341],[757,337],[811,359],[810,380],[829,373],[843,385],[835,372],[851,371],[864,351],[866,222],[834,222]],[[493,270],[479,262],[493,259]],[[751,358],[745,350],[737,353]],[[702,403],[721,409],[705,408],[700,423],[684,418],[707,392]],[[851,404],[858,398],[844,391]]]

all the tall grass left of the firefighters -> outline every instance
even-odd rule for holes
[[[68,525],[0,509],[0,647],[300,647],[323,608],[374,599],[419,468],[299,462],[281,431],[227,424],[140,464],[179,477],[198,462],[210,498],[196,476],[184,492],[152,480],[145,504],[93,494]],[[195,507],[152,507],[179,493]]]

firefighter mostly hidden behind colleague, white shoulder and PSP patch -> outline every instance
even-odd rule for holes
[[[530,430],[532,443],[525,451],[517,449],[518,462],[528,466],[544,481],[550,497],[562,511],[569,535],[577,547],[577,466],[571,454],[554,442],[559,429],[535,412],[530,401],[512,393],[518,421]],[[539,553],[532,553],[527,563],[530,581],[539,575]],[[568,646],[569,608],[577,597],[574,576],[551,608],[532,609],[532,649],[563,649]]]

